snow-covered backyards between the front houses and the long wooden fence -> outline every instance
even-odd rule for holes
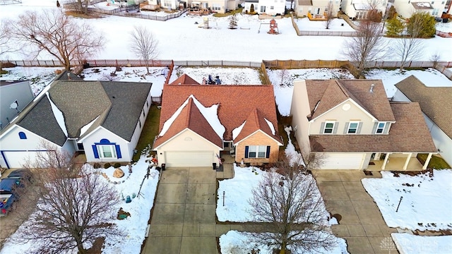
[[[144,67],[121,67],[122,71],[117,71],[116,76],[112,77],[110,73],[114,72],[114,67],[97,67],[87,68],[83,70],[81,75],[85,80],[116,80],[126,82],[151,82],[152,96],[160,96],[162,94],[165,76],[162,75],[163,68],[150,68],[150,75],[145,75]],[[30,80],[33,92],[37,94],[46,85],[52,82],[57,75],[55,70],[61,68],[44,68],[44,67],[16,67],[4,68],[7,74],[1,75],[0,80]],[[169,79],[172,82],[182,74],[188,74],[198,83],[202,83],[203,78],[208,75],[220,76],[222,84],[232,85],[260,85],[260,70],[256,68],[222,68],[222,67],[184,67],[174,66],[174,71]],[[352,79],[352,74],[343,69],[335,68],[306,68],[306,69],[290,69],[272,70],[267,69],[268,78],[273,83],[275,91],[275,101],[278,110],[283,116],[290,115],[290,106],[292,103],[293,83],[295,80],[303,79]],[[388,97],[392,97],[396,92],[396,83],[410,75],[415,75],[427,86],[452,86],[452,81],[445,75],[433,68],[425,71],[409,70],[400,73],[398,70],[371,69],[368,71],[366,78],[381,79],[386,88]],[[283,85],[281,85],[283,84]]]

